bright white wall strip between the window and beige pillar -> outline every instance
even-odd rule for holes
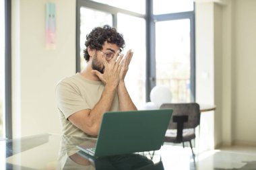
[[[195,6],[196,101],[214,105],[214,3]],[[200,150],[214,148],[214,112],[201,114]]]

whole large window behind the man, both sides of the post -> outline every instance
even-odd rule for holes
[[[138,108],[150,100],[155,85],[170,87],[173,102],[195,101],[193,0],[77,0],[77,11],[81,15],[77,52],[82,51],[86,34],[95,26],[112,24],[123,34],[124,52],[130,48],[134,52],[125,81]],[[89,11],[90,28],[82,20],[86,21]],[[85,64],[78,55],[80,71]]]

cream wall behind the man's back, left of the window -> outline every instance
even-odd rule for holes
[[[60,133],[55,86],[75,73],[75,0],[56,4],[56,49],[45,46],[47,0],[12,1],[13,138]]]

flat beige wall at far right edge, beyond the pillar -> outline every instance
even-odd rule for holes
[[[256,146],[256,1],[234,1],[234,141]]]

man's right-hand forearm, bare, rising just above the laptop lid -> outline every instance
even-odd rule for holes
[[[119,97],[119,108],[121,111],[137,110],[125,87],[125,82],[119,82],[117,93]]]

